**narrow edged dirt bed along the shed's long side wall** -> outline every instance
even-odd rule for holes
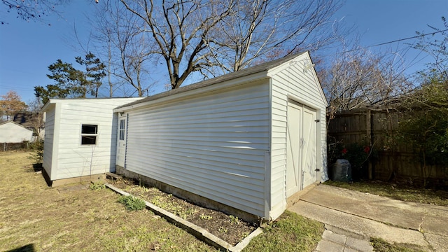
[[[174,195],[164,193],[158,188],[139,186],[139,182],[132,179],[119,179],[118,181],[109,181],[109,183],[204,228],[233,246],[258,226],[257,223],[248,223],[221,211],[200,207]]]

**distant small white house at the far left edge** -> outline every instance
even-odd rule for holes
[[[32,141],[33,131],[13,121],[0,124],[0,143],[22,143]]]

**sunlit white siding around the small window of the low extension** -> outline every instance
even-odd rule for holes
[[[53,167],[50,179],[114,171],[117,115],[113,113],[113,109],[137,99],[139,98],[55,100],[57,106],[60,106],[60,111],[57,112],[60,118],[59,130],[55,132],[58,137],[58,144],[55,146],[57,169]],[[98,125],[96,145],[80,144],[83,124]]]

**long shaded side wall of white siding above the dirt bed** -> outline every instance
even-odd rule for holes
[[[264,216],[269,85],[129,111],[126,169]]]

